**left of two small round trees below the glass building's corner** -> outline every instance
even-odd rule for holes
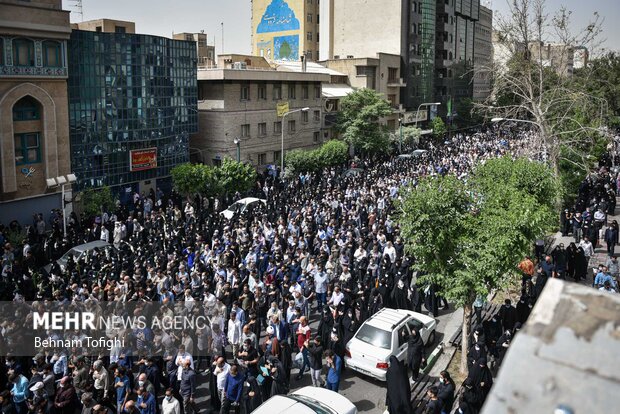
[[[175,190],[184,196],[193,194],[216,195],[220,185],[215,167],[205,164],[179,164],[171,170]]]

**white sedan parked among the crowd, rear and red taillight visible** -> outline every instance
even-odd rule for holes
[[[435,341],[437,321],[406,309],[383,308],[366,320],[346,345],[347,367],[385,381],[390,356],[407,358],[407,341],[417,329],[429,346]]]

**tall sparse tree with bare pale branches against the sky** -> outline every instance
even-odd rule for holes
[[[591,23],[574,33],[571,12],[561,8],[550,16],[545,3],[513,0],[508,2],[508,15],[494,19],[498,43],[508,59],[505,66],[482,69],[492,75],[493,91],[477,108],[489,117],[534,125],[537,134],[529,145],[531,155],[547,158],[559,177],[560,161],[585,159],[601,125],[600,118],[578,116],[599,113],[602,101],[575,84],[567,69],[573,46],[592,50],[601,28],[600,16],[594,13]],[[547,56],[548,43],[555,44],[552,56]],[[559,207],[559,200],[556,204]]]

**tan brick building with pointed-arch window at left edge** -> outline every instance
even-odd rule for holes
[[[60,0],[0,1],[0,222],[61,207],[46,179],[70,172],[69,12]]]

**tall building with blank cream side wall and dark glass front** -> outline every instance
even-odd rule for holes
[[[400,55],[401,102],[442,102],[445,112],[450,99],[473,96],[479,9],[479,0],[323,0],[321,58]]]

